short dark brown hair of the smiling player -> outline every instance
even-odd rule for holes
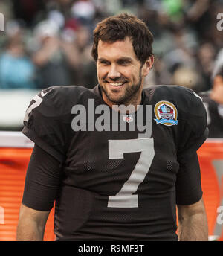
[[[97,61],[97,46],[101,40],[103,42],[123,41],[129,37],[135,55],[144,64],[149,56],[152,56],[153,36],[146,24],[136,16],[122,13],[117,16],[110,16],[103,19],[94,29],[94,42],[92,47],[92,57]]]

